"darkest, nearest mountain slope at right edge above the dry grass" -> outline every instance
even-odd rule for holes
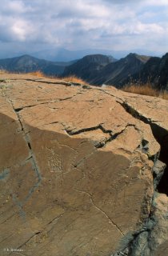
[[[168,53],[162,58],[152,57],[139,73],[134,74],[135,82],[150,82],[159,90],[168,89]]]

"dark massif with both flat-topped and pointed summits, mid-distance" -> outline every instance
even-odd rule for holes
[[[126,58],[116,61],[114,58],[109,59],[103,55],[89,55],[66,67],[63,76],[74,74],[94,85],[106,83],[120,87],[128,76],[141,70],[149,58],[138,54],[128,54]]]

